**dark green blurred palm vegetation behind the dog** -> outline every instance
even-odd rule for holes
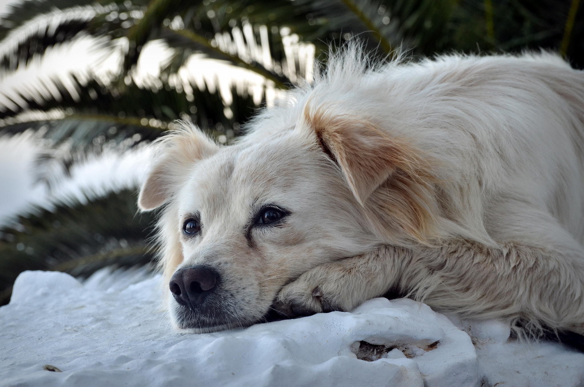
[[[391,60],[402,47],[413,57],[436,53],[518,52],[550,49],[574,67],[584,67],[584,18],[579,0],[25,0],[0,20],[0,84],[17,68],[42,57],[51,47],[82,36],[99,37],[95,48],[127,51],[109,82],[73,77],[76,92],[47,79],[57,92],[21,92],[13,103],[0,103],[0,134],[31,129],[51,140],[39,157],[39,181],[54,184],[54,174],[105,146],[120,151],[160,136],[173,120],[193,121],[213,136],[229,140],[253,115],[251,96],[233,88],[225,103],[210,88],[187,93],[173,76],[194,53],[244,67],[286,89],[296,74],[286,71],[284,40],[297,35],[314,44],[323,63],[329,44],[339,46],[358,36],[373,55]],[[89,13],[88,13],[89,12]],[[89,16],[84,16],[88,15]],[[42,25],[46,15],[54,25]],[[52,16],[51,16],[52,15]],[[63,17],[68,15],[67,17]],[[35,19],[37,18],[37,19]],[[37,22],[34,22],[37,20]],[[59,19],[60,21],[54,22]],[[23,26],[35,30],[18,33]],[[243,33],[242,33],[243,31]],[[241,36],[241,50],[226,50],[218,34]],[[157,85],[138,87],[133,69],[147,42],[162,39],[174,49]],[[220,38],[219,38],[220,39]],[[296,38],[295,38],[296,39]],[[269,60],[249,55],[255,45],[269,46]],[[11,43],[12,44],[9,44]],[[2,45],[4,44],[4,45]],[[222,50],[223,49],[223,50]],[[247,51],[246,51],[247,50]],[[247,52],[247,53],[246,53]],[[289,54],[289,53],[288,53]],[[261,62],[261,63],[260,63]],[[44,91],[48,86],[44,86]],[[42,87],[41,87],[42,89]],[[211,88],[212,89],[212,88]],[[2,88],[0,88],[2,92]],[[265,101],[265,98],[264,98]],[[60,119],[39,119],[37,112],[60,112]],[[243,127],[245,128],[245,126]],[[57,168],[55,168],[57,166]],[[58,171],[58,172],[55,172]],[[53,269],[87,276],[106,265],[147,262],[145,248],[151,215],[136,215],[133,192],[110,193],[88,203],[64,203],[37,209],[0,230],[0,303],[25,269]]]

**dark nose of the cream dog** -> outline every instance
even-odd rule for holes
[[[219,274],[209,267],[189,267],[176,271],[169,284],[176,302],[193,309],[213,292]]]

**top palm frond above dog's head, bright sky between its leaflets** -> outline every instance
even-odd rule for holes
[[[193,52],[201,52],[255,71],[284,88],[304,75],[306,66],[301,64],[312,64],[314,54],[306,57],[304,47],[301,50],[290,47],[300,44],[314,53],[312,43],[301,43],[300,33],[308,34],[312,42],[321,39],[321,48],[328,50],[325,40],[329,40],[332,32],[345,28],[346,39],[372,32],[391,50],[388,42],[397,41],[398,36],[385,6],[368,0],[344,2],[350,7],[336,0],[277,0],[266,6],[249,0],[216,1],[187,7],[178,0],[154,0],[144,18],[128,32],[130,51],[126,68],[137,61],[147,40],[165,39],[170,47],[178,49],[173,70],[186,63]],[[234,15],[238,18],[233,18]],[[269,28],[266,19],[273,20]]]

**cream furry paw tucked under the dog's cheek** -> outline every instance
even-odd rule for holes
[[[288,317],[314,313],[345,311],[342,285],[334,264],[325,264],[305,272],[296,281],[284,286],[273,308]]]

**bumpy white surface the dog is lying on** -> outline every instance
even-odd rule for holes
[[[503,323],[449,319],[409,299],[181,333],[162,310],[161,286],[147,269],[106,268],[83,284],[61,272],[23,272],[11,303],[0,307],[0,386],[547,387],[584,380],[584,354],[509,340]],[[369,352],[377,360],[357,358],[385,347],[393,349]],[[48,371],[55,368],[62,372]]]

